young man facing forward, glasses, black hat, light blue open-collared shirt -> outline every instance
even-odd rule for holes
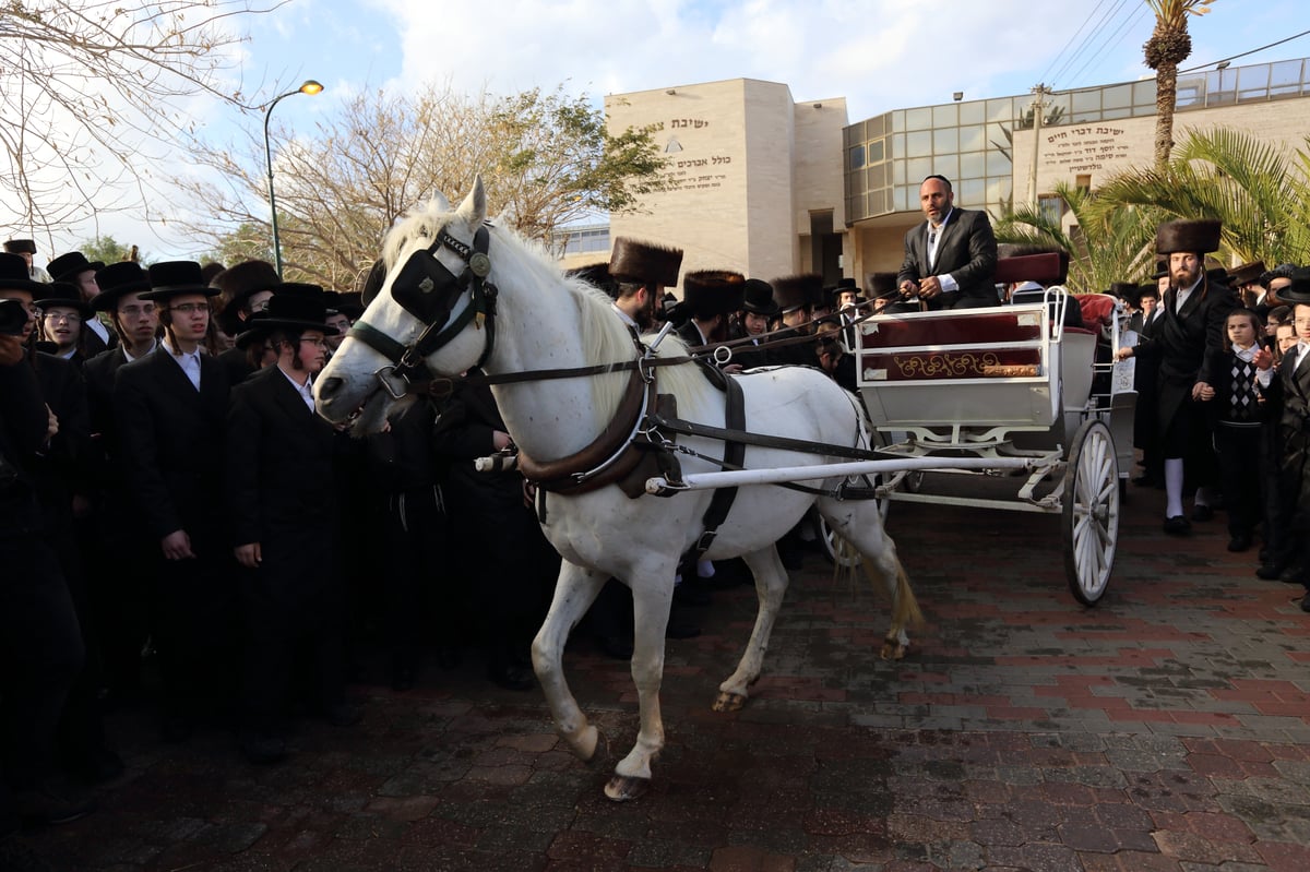
[[[164,681],[166,741],[228,702],[233,643],[232,551],[223,511],[227,372],[202,354],[211,296],[200,264],[156,263],[139,296],[159,309],[155,354],[118,371],[114,418],[139,525],[156,543],[152,638]]]

